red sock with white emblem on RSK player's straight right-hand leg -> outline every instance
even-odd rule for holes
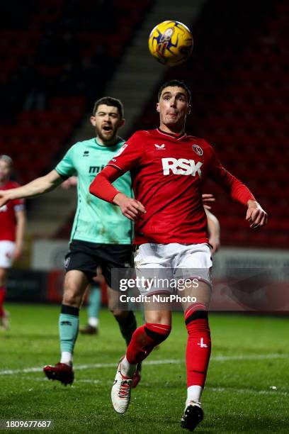
[[[210,327],[203,304],[188,308],[185,313],[188,343],[186,348],[187,386],[205,385],[210,360]]]

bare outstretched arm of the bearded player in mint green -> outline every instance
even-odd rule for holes
[[[62,182],[63,179],[60,174],[58,174],[56,170],[52,170],[44,177],[36,178],[26,185],[16,189],[0,191],[0,208],[12,199],[39,196],[40,194],[52,191]]]

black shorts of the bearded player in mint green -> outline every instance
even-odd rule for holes
[[[66,272],[77,269],[84,272],[89,282],[96,276],[96,268],[101,267],[108,286],[111,286],[113,268],[132,267],[132,246],[130,244],[96,244],[88,241],[72,240],[65,256]]]

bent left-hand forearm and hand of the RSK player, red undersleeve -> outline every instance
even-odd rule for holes
[[[121,212],[132,221],[141,218],[142,213],[145,213],[145,207],[137,201],[125,194],[120,193],[112,182],[118,179],[123,173],[113,166],[107,166],[94,178],[94,181],[89,187],[89,192],[103,201],[111,202],[118,205]]]

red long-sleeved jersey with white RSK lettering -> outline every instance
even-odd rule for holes
[[[211,145],[186,133],[137,131],[108,166],[121,172],[130,170],[135,199],[146,208],[143,219],[135,222],[136,244],[208,243],[202,202],[206,176],[242,204],[254,199],[249,189],[222,167]],[[106,170],[103,169],[103,176]],[[101,174],[98,177],[101,180]],[[96,188],[98,177],[94,182]],[[96,195],[101,197],[99,192]],[[110,194],[112,199],[113,189]]]

